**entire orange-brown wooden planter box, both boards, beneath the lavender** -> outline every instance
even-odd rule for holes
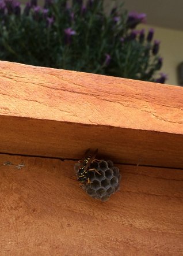
[[[183,255],[183,88],[0,62],[1,255]],[[122,176],[79,187],[86,149]]]

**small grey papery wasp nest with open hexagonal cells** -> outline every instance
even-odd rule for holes
[[[75,165],[75,169],[77,168],[78,164]],[[96,170],[90,169],[96,169],[98,173]],[[106,201],[110,195],[119,190],[121,176],[119,168],[113,166],[112,161],[94,161],[88,168],[87,177],[89,177],[90,183],[82,184],[81,187],[93,198]]]

